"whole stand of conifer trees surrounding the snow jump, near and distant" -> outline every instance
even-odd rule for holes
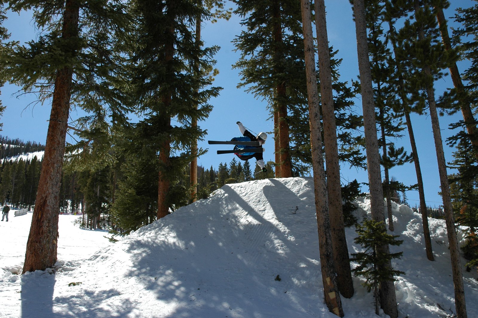
[[[373,221],[369,229],[360,225],[370,237],[358,241],[384,255],[369,285],[383,311],[397,317],[393,276],[400,274],[391,268],[400,253],[389,250],[399,242],[383,233],[394,229],[391,202],[408,203],[405,191],[413,189],[420,194],[414,209],[423,216],[430,261],[427,219],[446,220],[456,315],[466,318],[462,271],[478,266],[478,0],[453,17],[444,15],[453,0],[349,0],[359,74],[348,82],[327,38],[332,2],[1,0],[0,88],[17,85],[51,107],[44,144],[0,136],[0,201],[37,216],[23,271],[55,263],[58,213],[82,214],[84,227],[128,235],[226,184],[313,175],[325,302],[343,317],[334,295],[354,293],[344,227],[356,224],[351,202],[361,195],[357,181],[341,184],[339,165],[347,163],[368,171]],[[22,44],[3,23],[8,12],[26,10],[41,32]],[[268,144],[275,157],[265,172],[255,159],[197,164],[206,153],[198,147],[207,138],[201,124],[222,90],[215,82],[219,47],[206,46],[201,30],[231,15],[242,26],[230,39],[240,53],[232,66],[240,74],[238,88],[264,100],[273,121]],[[459,61],[468,67],[458,70]],[[436,90],[445,76],[453,87]],[[0,101],[0,112],[9,106]],[[73,109],[86,115],[71,121]],[[431,119],[439,209],[424,197],[412,114]],[[444,140],[440,118],[452,114],[461,114],[451,127],[457,133]],[[66,142],[67,134],[74,143]],[[396,145],[405,135],[407,146]],[[451,161],[444,144],[455,149]],[[43,157],[19,156],[34,152]],[[394,167],[408,163],[416,184],[391,177]],[[456,239],[458,227],[466,231],[464,245]],[[370,243],[372,230],[383,239]]]

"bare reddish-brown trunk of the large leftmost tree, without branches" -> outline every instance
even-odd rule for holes
[[[78,18],[79,1],[67,0],[63,13],[63,39],[78,36]],[[76,54],[74,48],[68,49],[73,51],[71,53]],[[59,191],[72,78],[73,68],[71,66],[65,66],[56,72],[42,171],[27,241],[23,273],[44,270],[56,262]]]

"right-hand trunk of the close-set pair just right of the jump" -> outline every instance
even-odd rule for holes
[[[332,75],[327,37],[326,8],[324,0],[315,0],[315,28],[319,54],[320,96],[324,118],[324,143],[326,152],[326,175],[328,193],[328,212],[338,287],[342,296],[354,295],[352,272],[348,258],[345,238],[344,213],[340,186],[340,167],[338,164],[337,127],[335,123]]]

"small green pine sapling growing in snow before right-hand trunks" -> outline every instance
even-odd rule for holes
[[[356,232],[359,236],[354,241],[365,248],[365,251],[351,254],[351,261],[359,263],[359,266],[353,269],[352,272],[358,276],[365,277],[366,280],[362,285],[367,287],[368,292],[373,290],[375,313],[378,315],[380,284],[388,280],[395,281],[394,275],[405,274],[385,266],[390,263],[391,259],[400,258],[403,252],[384,253],[380,251],[379,247],[385,244],[398,246],[403,241],[395,240],[399,235],[387,234],[383,221],[365,220],[363,225],[357,224],[356,227]]]

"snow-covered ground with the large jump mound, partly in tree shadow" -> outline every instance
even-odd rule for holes
[[[0,222],[0,317],[337,317],[323,299],[313,186],[312,178],[226,185],[116,243],[60,215],[55,268],[21,276],[32,213],[11,211]],[[359,219],[370,217],[369,200],[357,204]],[[393,215],[403,244],[391,252],[403,257],[392,265],[406,273],[395,282],[399,317],[455,313],[445,221],[429,219],[430,262],[421,216],[396,204]],[[361,251],[355,229],[346,235],[349,252]],[[354,296],[342,298],[345,317],[377,317],[360,283],[354,277]],[[464,283],[468,317],[478,317],[476,271],[464,271]]]

